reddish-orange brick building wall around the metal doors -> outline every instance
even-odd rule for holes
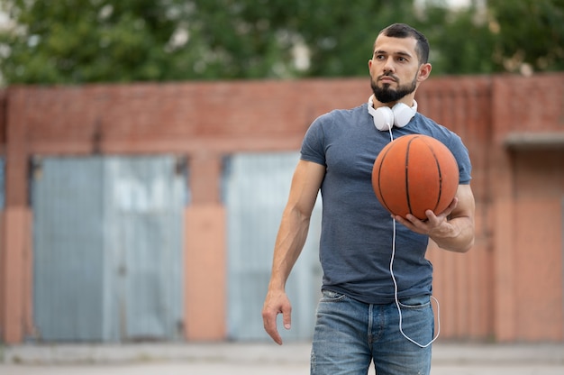
[[[186,339],[222,340],[228,308],[223,156],[296,151],[316,116],[359,105],[369,95],[368,78],[0,92],[6,158],[1,339],[18,343],[32,331],[32,155],[186,155],[192,193],[185,212]],[[441,338],[564,341],[564,74],[432,78],[417,100],[420,112],[459,133],[474,168],[474,249],[429,252]],[[196,288],[204,282],[215,293]]]

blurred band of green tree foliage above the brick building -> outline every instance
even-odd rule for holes
[[[7,84],[366,76],[390,23],[428,36],[433,75],[564,68],[564,0],[482,3],[3,0],[0,71]]]

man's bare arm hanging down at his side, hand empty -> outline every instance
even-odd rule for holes
[[[278,344],[282,344],[282,339],[277,331],[277,315],[282,314],[286,329],[290,329],[291,325],[292,306],[286,295],[286,281],[304,247],[309,220],[324,175],[323,165],[305,160],[298,162],[278,229],[272,273],[262,309],[264,328]]]

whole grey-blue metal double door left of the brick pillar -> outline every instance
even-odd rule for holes
[[[179,337],[185,179],[170,156],[36,163],[34,317],[41,340]]]

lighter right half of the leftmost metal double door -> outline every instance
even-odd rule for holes
[[[178,339],[182,323],[183,175],[170,157],[109,158],[107,248],[122,340]],[[108,312],[109,313],[109,312]],[[118,317],[119,321],[115,318]]]

